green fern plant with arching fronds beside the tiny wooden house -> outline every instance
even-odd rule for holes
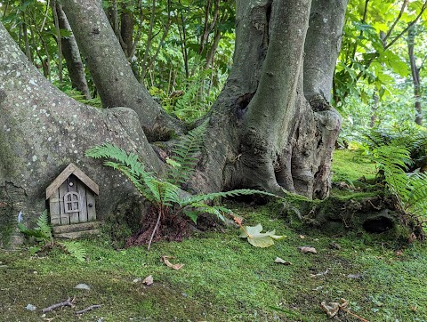
[[[197,157],[205,140],[206,127],[207,122],[190,131],[172,149],[173,158],[167,159],[170,168],[162,177],[158,177],[157,173],[147,171],[137,155],[128,154],[115,145],[105,143],[86,150],[88,157],[109,159],[104,162],[104,165],[124,173],[142,197],[145,197],[153,205],[157,213],[157,222],[149,237],[148,248],[160,222],[167,216],[182,213],[192,221],[197,222],[197,216],[200,213],[212,213],[223,221],[225,219],[224,214],[232,213],[230,209],[222,205],[208,205],[206,202],[220,197],[252,195],[254,193],[276,197],[273,194],[254,189],[236,189],[195,196],[181,189],[181,185],[189,180],[196,168]]]

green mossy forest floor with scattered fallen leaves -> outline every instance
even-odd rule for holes
[[[352,185],[373,165],[335,155],[335,179]],[[228,206],[247,225],[285,235],[269,248],[217,227],[182,242],[115,249],[105,235],[81,240],[79,262],[53,250],[0,251],[0,321],[326,321],[321,302],[349,302],[334,321],[427,321],[427,245],[399,244],[363,230],[325,233],[284,218],[278,203]],[[312,246],[317,254],[298,247]],[[161,262],[162,256],[173,270]],[[277,263],[279,257],[286,264]],[[152,276],[153,284],[141,280]],[[90,289],[76,289],[78,284]],[[42,309],[69,298],[74,307]],[[36,310],[27,310],[28,304]],[[76,315],[93,304],[101,305]]]

